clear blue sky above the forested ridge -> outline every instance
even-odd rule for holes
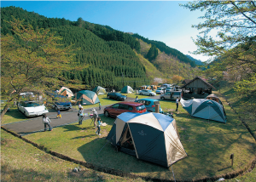
[[[189,0],[5,0],[0,7],[15,6],[48,18],[78,20],[111,26],[124,32],[137,33],[149,40],[166,43],[183,54],[201,61],[207,56],[190,54],[196,50],[192,37],[198,30],[192,28],[203,20],[201,11],[190,12],[179,6]],[[192,2],[192,0],[190,0]]]

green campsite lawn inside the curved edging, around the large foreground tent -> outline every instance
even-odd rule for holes
[[[136,97],[135,94],[127,95]],[[102,105],[107,105],[109,101],[102,101],[103,99],[100,98]],[[227,123],[189,117],[181,105],[179,111],[173,112],[181,142],[188,153],[188,157],[172,166],[176,179],[201,179],[231,173],[246,168],[247,163],[254,158],[255,140],[230,106],[224,100],[223,103],[228,117]],[[160,101],[160,105],[164,111],[173,111],[176,108],[174,101]],[[90,126],[90,121],[87,121],[83,122],[83,125],[75,123],[55,128],[53,132],[30,134],[26,139],[44,145],[51,151],[102,167],[116,168],[152,178],[173,179],[171,167],[162,168],[153,163],[137,160],[134,156],[116,152],[110,144],[102,149],[107,143],[105,137],[114,119],[102,117],[102,121],[108,123],[107,127],[102,127],[102,136],[96,135],[96,128]],[[101,149],[102,151],[97,154]],[[233,167],[230,166],[231,153],[235,155]]]

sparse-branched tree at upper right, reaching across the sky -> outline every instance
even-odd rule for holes
[[[191,11],[205,12],[203,23],[193,27],[201,30],[194,40],[197,45],[195,54],[207,54],[218,58],[218,71],[236,71],[236,77],[247,81],[254,80],[256,74],[256,2],[254,0],[195,0],[182,5]],[[217,38],[209,36],[217,30]],[[241,88],[241,87],[237,87]],[[252,90],[254,87],[252,87]]]

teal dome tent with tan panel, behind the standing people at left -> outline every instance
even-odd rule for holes
[[[97,94],[90,90],[81,90],[75,94],[74,98],[81,105],[94,105],[100,102]]]

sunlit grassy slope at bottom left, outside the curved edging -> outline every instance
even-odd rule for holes
[[[100,173],[50,156],[0,130],[0,181],[143,181]],[[81,168],[73,173],[73,168]]]

